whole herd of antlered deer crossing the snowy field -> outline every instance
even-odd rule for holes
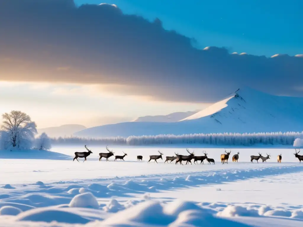
[[[75,152],[75,158],[73,159],[73,161],[75,161],[75,159],[78,161],[78,158],[84,158],[83,162],[85,162],[86,157],[89,156],[90,154],[92,154],[92,151],[89,150],[86,147],[86,145],[84,147],[88,151],[87,152]],[[102,158],[105,158],[106,161],[108,161],[109,157],[114,156],[115,152],[113,152],[112,150],[109,150],[107,146],[106,146],[106,150],[108,151],[108,153],[99,153],[99,161],[101,161]],[[298,155],[298,153],[300,152],[300,149],[298,149],[298,150],[299,151],[297,152],[297,149],[295,149],[294,155],[295,155],[296,158],[298,158],[298,160],[301,163],[301,161],[303,161],[303,155]],[[207,156],[208,153],[206,153],[206,151],[203,151],[204,156],[195,156],[195,151],[190,152],[189,149],[186,149],[186,151],[189,153],[189,155],[180,155],[178,153],[175,153],[176,156],[166,156],[164,163],[166,163],[166,162],[168,163],[168,161],[170,161],[170,163],[171,163],[172,161],[176,160],[175,164],[180,163],[181,165],[183,165],[182,161],[186,161],[185,165],[187,165],[188,163],[191,163],[191,160],[194,160],[194,164],[196,164],[196,163],[198,164],[198,161],[200,161],[200,164],[202,164],[202,163],[204,164],[204,160],[206,160],[207,164],[211,164],[211,163],[215,164],[214,159],[208,158],[208,156]],[[159,150],[158,150],[158,153],[159,154],[156,154],[156,155],[150,155],[149,160],[148,160],[147,163],[149,163],[151,160],[154,160],[154,163],[155,162],[158,163],[157,162],[158,159],[163,160],[163,158],[162,158],[163,153],[161,153]],[[231,150],[229,152],[227,152],[226,149],[225,149],[225,153],[221,154],[221,156],[220,156],[220,160],[221,160],[222,164],[225,164],[225,163],[228,164],[228,159],[229,159],[230,154],[231,154]],[[238,162],[239,154],[240,154],[240,152],[237,152],[237,154],[232,156],[232,162]],[[124,160],[125,156],[127,156],[127,153],[124,153],[124,155],[121,155],[121,156],[116,155],[114,161],[116,161],[118,159],[125,161]],[[258,160],[261,159],[262,163],[264,163],[264,162],[266,162],[266,160],[270,159],[270,157],[271,157],[270,154],[266,153],[266,156],[264,157],[264,156],[262,156],[262,154],[260,152],[258,152],[258,155],[256,155],[256,156],[251,155],[250,156],[250,162],[253,163],[253,160],[256,160],[257,163],[259,163]],[[143,156],[138,155],[137,160],[142,161]],[[282,154],[280,153],[277,156],[278,163],[281,163],[281,160],[282,160]],[[192,165],[192,163],[191,163],[191,165]]]

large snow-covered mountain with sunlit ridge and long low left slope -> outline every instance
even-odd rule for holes
[[[81,137],[128,137],[158,134],[253,133],[303,130],[303,98],[240,89],[178,122],[125,122],[92,127]]]

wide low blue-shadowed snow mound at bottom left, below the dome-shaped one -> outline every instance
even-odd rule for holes
[[[82,218],[80,215],[62,211],[60,209],[37,208],[16,216],[16,221],[31,222],[63,222],[69,224],[86,224],[90,220]]]

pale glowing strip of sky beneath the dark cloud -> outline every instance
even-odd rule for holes
[[[38,128],[63,124],[93,127],[147,115],[201,110],[209,105],[109,94],[98,85],[8,81],[0,81],[0,103],[1,114],[21,110],[37,123]]]

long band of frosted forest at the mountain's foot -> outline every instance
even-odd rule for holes
[[[117,145],[152,145],[152,144],[208,144],[252,146],[264,145],[293,145],[294,140],[303,137],[303,132],[272,132],[272,133],[213,133],[213,134],[184,134],[157,136],[130,136],[107,139],[92,139],[80,137],[52,138],[52,144],[117,144]]]

